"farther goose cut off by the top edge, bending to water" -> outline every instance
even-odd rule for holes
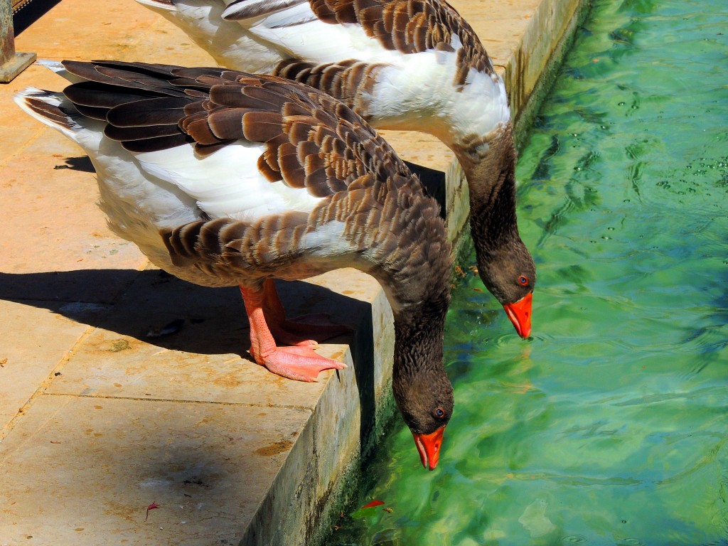
[[[483,44],[444,0],[138,0],[223,66],[305,82],[378,129],[455,153],[470,189],[478,272],[522,337],[536,270],[518,234],[513,125]]]

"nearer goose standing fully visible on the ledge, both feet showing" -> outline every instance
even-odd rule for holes
[[[343,103],[304,84],[223,68],[45,62],[76,82],[16,102],[75,141],[116,234],[205,286],[239,285],[256,363],[314,381],[341,363],[295,337],[272,279],[355,267],[395,317],[392,385],[422,464],[435,468],[453,391],[443,368],[451,246],[439,207]]]

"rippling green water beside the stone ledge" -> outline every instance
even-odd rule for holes
[[[533,337],[459,283],[440,464],[397,420],[329,544],[728,545],[728,2],[594,2],[518,179]]]

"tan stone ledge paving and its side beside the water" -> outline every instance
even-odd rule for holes
[[[505,72],[521,130],[579,1],[454,4]],[[213,63],[132,0],[63,0],[16,42],[41,58]],[[63,81],[31,66],[0,89],[0,197],[14,204],[0,224],[0,545],[323,542],[393,414],[381,288],[349,269],[282,285],[291,313],[331,312],[355,333],[320,349],[346,370],[318,384],[272,376],[245,360],[236,290],[160,274],[105,229],[87,159],[10,103],[29,85]],[[384,136],[434,187],[446,173],[448,232],[462,238],[467,186],[451,152]]]

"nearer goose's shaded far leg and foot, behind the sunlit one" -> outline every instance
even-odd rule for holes
[[[307,338],[323,341],[352,331],[347,325],[331,323],[325,313],[287,319],[272,279],[266,279],[263,283],[263,309],[274,339],[287,345],[317,345],[317,341]]]

